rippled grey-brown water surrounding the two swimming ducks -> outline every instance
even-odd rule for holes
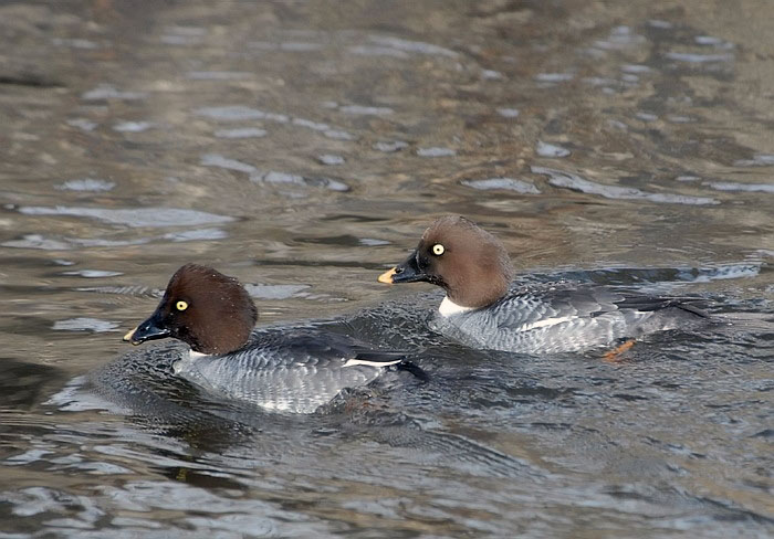
[[[774,4],[0,4],[0,537],[768,537]],[[520,278],[703,297],[598,351],[466,350],[387,287],[436,216]],[[410,350],[272,415],[121,336],[185,262],[260,324]],[[730,321],[731,320],[731,321]]]

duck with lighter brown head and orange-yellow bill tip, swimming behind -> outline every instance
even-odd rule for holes
[[[514,285],[505,246],[460,215],[437,219],[402,263],[378,276],[385,284],[426,282],[446,295],[430,329],[464,346],[526,355],[580,352],[679,329],[709,316],[694,298],[647,296],[603,285]]]

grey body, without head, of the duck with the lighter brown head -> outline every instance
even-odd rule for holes
[[[705,316],[684,298],[562,284],[522,287],[485,308],[438,314],[430,326],[475,348],[553,353],[674,329]]]

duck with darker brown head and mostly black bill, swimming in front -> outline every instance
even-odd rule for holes
[[[423,377],[402,352],[373,349],[315,325],[254,330],[257,321],[258,309],[237,278],[186,264],[156,310],[123,340],[180,340],[188,350],[172,364],[175,374],[215,395],[275,412],[313,413],[389,368]]]

